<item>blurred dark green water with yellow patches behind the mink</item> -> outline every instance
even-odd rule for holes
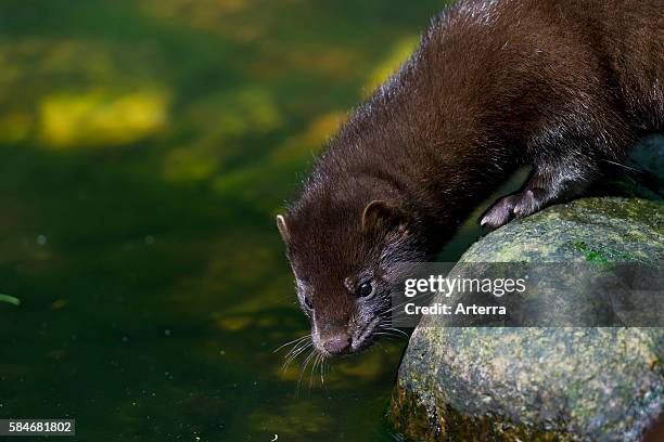
[[[273,219],[443,6],[2,0],[0,294],[21,304],[0,302],[0,417],[89,441],[394,439],[405,341],[324,386],[282,373],[308,323]]]

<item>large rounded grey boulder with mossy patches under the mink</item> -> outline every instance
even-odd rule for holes
[[[493,232],[461,259],[662,260],[664,206],[622,198],[551,207]],[[418,326],[399,369],[388,415],[413,439],[639,441],[664,412],[663,328],[444,324],[429,316]]]

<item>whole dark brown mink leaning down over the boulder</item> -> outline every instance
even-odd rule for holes
[[[662,0],[461,0],[320,155],[277,217],[323,356],[384,329],[397,262],[432,259],[512,173],[498,227],[578,196],[664,127]]]

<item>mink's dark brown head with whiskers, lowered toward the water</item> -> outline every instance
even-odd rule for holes
[[[388,326],[398,263],[425,259],[417,223],[385,200],[307,199],[277,217],[299,304],[318,352],[354,353]]]

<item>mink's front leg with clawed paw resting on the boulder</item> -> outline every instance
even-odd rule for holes
[[[554,203],[582,195],[597,180],[599,167],[589,157],[571,156],[535,166],[524,186],[499,198],[481,218],[481,225],[498,229],[512,218],[523,218]]]

